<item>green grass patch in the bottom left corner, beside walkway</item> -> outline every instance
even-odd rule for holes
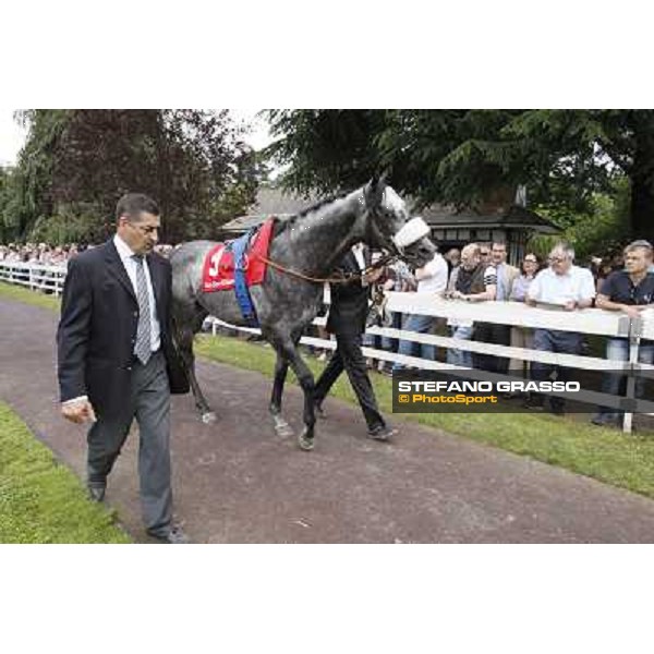
[[[114,521],[0,402],[0,543],[130,543]]]

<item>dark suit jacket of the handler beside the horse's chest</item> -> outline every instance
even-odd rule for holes
[[[370,250],[363,250],[365,265],[370,264]],[[361,269],[352,251],[343,257],[338,270],[349,275],[359,275]],[[362,287],[361,279],[350,283],[330,286],[331,305],[327,318],[327,331],[331,334],[360,335],[365,331],[368,313],[370,287]]]

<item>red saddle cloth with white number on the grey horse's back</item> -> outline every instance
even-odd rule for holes
[[[268,246],[272,234],[275,218],[268,218],[250,241],[245,253],[245,281],[247,286],[256,286],[264,281],[266,264],[258,256],[268,256]],[[228,291],[234,288],[234,255],[225,252],[225,243],[218,243],[207,254],[202,274],[202,290]]]

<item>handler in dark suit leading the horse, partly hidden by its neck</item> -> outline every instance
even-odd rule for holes
[[[343,257],[339,271],[344,275],[360,275],[368,263],[367,249],[354,246]],[[323,401],[344,370],[363,411],[368,436],[377,440],[388,440],[395,429],[386,424],[379,413],[365,359],[361,351],[362,335],[365,331],[368,313],[370,284],[376,281],[380,275],[382,269],[378,269],[364,278],[353,279],[350,283],[331,284],[327,331],[336,335],[337,348],[320,378],[316,382],[314,402],[317,414],[324,417]]]

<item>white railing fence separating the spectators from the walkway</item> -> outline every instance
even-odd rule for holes
[[[60,295],[65,279],[65,268],[58,266],[41,266],[35,264],[0,262],[0,281],[25,286],[33,290],[50,291]],[[467,341],[450,337],[436,336],[432,334],[416,334],[390,327],[371,327],[366,334],[382,336],[399,340],[408,340],[416,343],[426,343],[438,348],[452,348],[473,353],[482,353],[492,356],[501,356],[523,362],[538,361],[542,363],[577,367],[589,371],[618,371],[626,373],[638,371],[641,376],[654,376],[654,365],[638,363],[638,353],[641,338],[654,340],[654,311],[642,312],[641,318],[631,319],[619,312],[607,312],[600,308],[585,308],[581,311],[565,312],[553,311],[552,307],[538,308],[526,306],[518,302],[480,302],[468,303],[455,300],[443,300],[428,294],[421,293],[395,293],[387,294],[388,302],[386,311],[402,314],[428,315],[441,318],[456,318],[458,320],[497,323],[525,328],[557,329],[562,331],[577,331],[586,335],[601,335],[606,337],[626,337],[629,339],[629,361],[616,362],[593,356],[578,356],[572,354],[557,354],[553,352],[540,352],[535,350],[497,346],[493,343]],[[325,303],[329,304],[329,293],[326,289]],[[213,334],[217,334],[219,327],[228,328],[246,334],[261,334],[258,329],[229,325],[216,317],[207,318]],[[324,326],[325,317],[317,317],[314,325]],[[334,350],[336,342],[316,337],[305,336],[301,342],[306,346]],[[405,366],[414,366],[423,370],[435,370],[455,373],[456,366],[422,359],[420,356],[408,356],[396,352],[379,350],[376,348],[364,348],[365,356],[398,363]],[[461,368],[461,376],[475,376],[488,380],[518,379],[505,375],[480,374],[477,371]],[[553,393],[558,395],[558,393]],[[564,395],[564,393],[561,393]],[[632,403],[626,398],[607,393],[584,390],[579,393],[579,399],[605,405],[613,409],[631,409]],[[628,377],[627,400],[633,400],[634,378]],[[638,401],[638,412],[654,415],[654,402]],[[631,432],[632,413],[625,414],[623,429]]]

